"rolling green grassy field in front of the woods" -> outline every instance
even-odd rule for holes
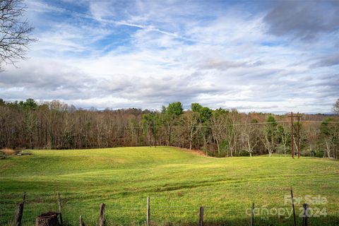
[[[146,197],[151,199],[154,225],[196,225],[205,206],[206,225],[249,225],[246,210],[254,202],[256,225],[292,225],[285,196],[290,186],[297,197],[325,197],[311,203],[310,225],[339,225],[339,162],[283,156],[204,157],[169,147],[95,150],[32,150],[32,155],[0,160],[0,225],[13,220],[16,204],[27,192],[23,225],[35,216],[57,210],[63,198],[64,219],[78,225],[79,215],[95,225],[100,203],[106,204],[108,225],[144,225]],[[298,225],[299,208],[297,204]],[[262,212],[268,208],[269,213]],[[326,215],[326,216],[325,216]]]

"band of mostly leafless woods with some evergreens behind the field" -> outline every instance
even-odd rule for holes
[[[52,102],[5,102],[0,99],[0,148],[70,149],[166,145],[232,157],[280,153],[290,155],[291,138],[302,155],[338,158],[337,115],[302,114],[297,144],[287,115],[210,109],[181,102],[161,111],[81,109]]]

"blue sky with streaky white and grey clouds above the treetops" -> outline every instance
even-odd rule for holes
[[[339,98],[338,1],[26,1],[28,60],[4,100],[329,113]]]

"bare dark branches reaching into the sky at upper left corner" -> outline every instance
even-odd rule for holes
[[[33,28],[23,18],[23,0],[0,0],[0,69],[1,64],[13,64],[25,59]]]

